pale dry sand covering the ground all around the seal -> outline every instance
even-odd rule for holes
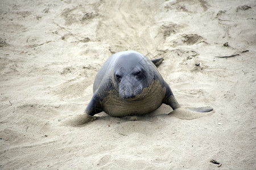
[[[0,8],[0,169],[256,169],[254,0],[2,0]],[[155,114],[165,116],[100,113],[62,125],[84,112],[97,71],[122,50],[163,57],[159,71],[182,107],[214,111],[184,120],[163,105]]]

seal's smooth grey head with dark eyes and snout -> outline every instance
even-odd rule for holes
[[[150,60],[140,53],[122,54],[115,61],[113,85],[122,99],[137,99],[144,88],[153,82],[151,71],[148,70]]]

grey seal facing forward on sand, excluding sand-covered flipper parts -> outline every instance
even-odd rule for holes
[[[96,75],[93,97],[85,113],[88,116],[104,111],[110,116],[123,117],[146,114],[167,104],[180,108],[171,88],[155,65],[163,58],[150,60],[133,50],[109,57]],[[210,112],[213,108],[194,108],[194,112]],[[90,119],[88,119],[89,121]]]

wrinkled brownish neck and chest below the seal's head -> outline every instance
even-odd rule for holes
[[[155,111],[162,105],[166,94],[166,87],[162,87],[159,80],[154,80],[149,87],[134,98],[123,99],[116,90],[109,91],[109,95],[102,100],[105,113],[116,116],[141,115]]]

